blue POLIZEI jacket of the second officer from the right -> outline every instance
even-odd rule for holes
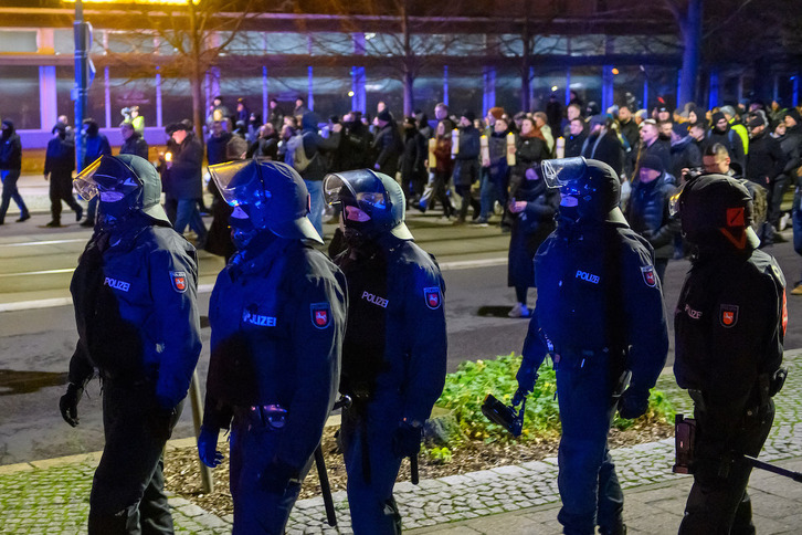
[[[524,344],[527,366],[547,353],[609,354],[647,391],[668,350],[665,308],[653,250],[624,223],[560,220],[535,258],[538,300]]]

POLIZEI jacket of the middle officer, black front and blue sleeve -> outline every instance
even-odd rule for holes
[[[429,418],[443,391],[447,342],[445,283],[432,256],[382,234],[366,254],[335,260],[348,280],[342,394],[397,406],[409,421]]]

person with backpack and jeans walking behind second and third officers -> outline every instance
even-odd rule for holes
[[[309,190],[312,208],[309,221],[318,234],[323,237],[323,212],[326,210],[326,202],[323,198],[323,179],[328,172],[326,158],[321,153],[336,150],[340,145],[340,130],[342,125],[336,124],[331,127],[328,137],[323,137],[317,132],[319,117],[314,112],[306,112],[300,119],[302,130],[287,140],[287,150],[284,161],[298,171]]]

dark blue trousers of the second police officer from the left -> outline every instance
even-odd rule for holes
[[[282,535],[312,458],[300,472],[300,481],[287,479],[273,487],[266,485],[267,474],[277,472],[275,452],[284,431],[270,424],[255,424],[243,416],[245,412],[235,411],[231,424],[230,489],[234,502],[234,526],[231,533]],[[283,487],[284,492],[276,492],[275,486]]]

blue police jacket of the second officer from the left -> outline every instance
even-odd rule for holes
[[[276,455],[303,466],[337,392],[345,287],[337,266],[299,240],[252,242],[234,256],[209,304],[204,423],[228,428],[238,407],[281,405],[287,418]]]

